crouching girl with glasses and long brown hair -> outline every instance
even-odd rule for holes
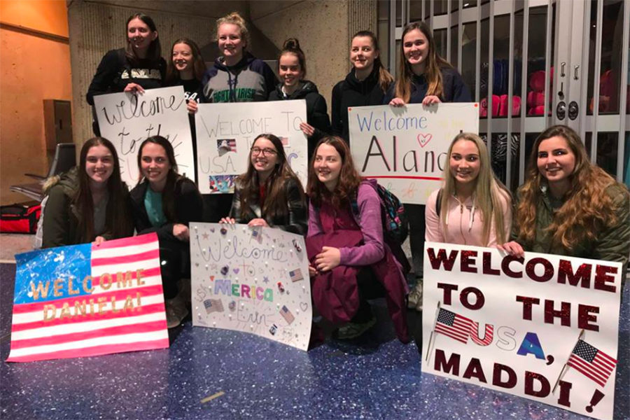
[[[254,140],[247,172],[235,181],[230,216],[221,223],[247,223],[306,235],[304,189],[274,134],[260,134]]]

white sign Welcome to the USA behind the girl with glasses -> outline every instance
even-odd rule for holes
[[[200,104],[197,127],[197,174],[202,194],[234,193],[235,176],[247,170],[249,149],[259,134],[282,141],[291,169],[306,186],[306,101]]]

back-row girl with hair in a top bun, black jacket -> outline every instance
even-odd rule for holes
[[[317,91],[315,83],[306,77],[306,57],[296,38],[284,41],[278,59],[278,74],[281,82],[269,94],[269,101],[306,99],[307,122],[300,123],[300,130],[308,137],[308,160],[311,160],[315,145],[330,133],[330,120],[326,100]]]

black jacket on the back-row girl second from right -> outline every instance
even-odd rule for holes
[[[383,104],[385,92],[379,85],[379,69],[374,70],[365,80],[358,80],[354,76],[354,70],[348,73],[345,80],[340,81],[332,88],[332,134],[350,140],[348,131],[348,108],[352,106],[368,106]]]

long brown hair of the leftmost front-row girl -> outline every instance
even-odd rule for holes
[[[77,231],[80,232],[80,241],[89,242],[94,240],[94,201],[92,200],[92,190],[90,190],[90,176],[85,171],[87,153],[94,146],[105,146],[111,153],[113,160],[113,170],[107,180],[107,201],[105,227],[107,232],[111,232],[113,237],[122,238],[131,235],[133,232],[132,221],[127,209],[126,186],[120,179],[120,162],[116,148],[111,141],[103,137],[92,137],[87,140],[81,148],[78,166],[78,189],[74,196],[73,203],[83,217],[79,219]]]

